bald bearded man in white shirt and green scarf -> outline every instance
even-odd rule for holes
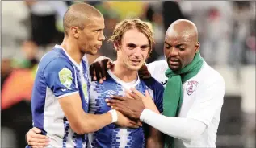
[[[107,105],[162,131],[165,147],[216,147],[225,81],[200,56],[199,45],[195,24],[179,19],[166,31],[166,60],[147,65],[165,85],[163,115],[138,93],[131,93],[135,99],[114,96]]]

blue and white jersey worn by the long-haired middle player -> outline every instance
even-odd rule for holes
[[[107,80],[103,84],[92,82],[90,85],[90,113],[102,114],[111,108],[107,106],[105,99],[110,95],[124,96],[124,88],[135,87],[141,93],[149,90],[149,94],[162,113],[162,97],[164,88],[157,80],[135,80],[132,84],[125,83],[117,78],[110,70]],[[93,134],[88,134],[88,147],[97,148],[143,148],[145,147],[145,132],[147,125],[138,129],[121,128],[118,125],[110,124]]]

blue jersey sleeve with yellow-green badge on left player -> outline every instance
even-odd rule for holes
[[[46,66],[44,81],[57,98],[78,93],[74,68],[65,59],[57,58]]]

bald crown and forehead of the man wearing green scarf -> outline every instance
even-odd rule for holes
[[[198,41],[198,31],[195,23],[187,19],[178,19],[170,25],[166,31],[166,35],[174,35],[176,37],[183,36],[191,41]]]

